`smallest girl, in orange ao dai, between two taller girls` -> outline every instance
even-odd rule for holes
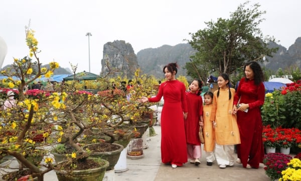
[[[210,115],[212,110],[213,93],[207,92],[204,94],[203,106],[203,119],[204,119],[204,150],[206,152],[206,161],[208,166],[212,166],[212,162],[215,160],[214,149],[215,149],[215,132],[212,121],[210,121]]]

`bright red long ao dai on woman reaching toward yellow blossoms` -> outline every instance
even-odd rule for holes
[[[161,115],[161,159],[163,163],[182,166],[187,162],[187,146],[183,112],[187,113],[186,87],[179,80],[161,83],[156,97],[149,102],[159,102],[164,97]]]

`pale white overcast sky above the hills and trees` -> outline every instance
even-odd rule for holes
[[[89,71],[88,37],[90,32],[90,70],[99,74],[103,45],[114,40],[130,43],[134,52],[162,45],[187,43],[189,33],[206,28],[204,22],[228,19],[240,0],[9,0],[0,2],[0,37],[8,46],[3,67],[13,57],[27,56],[25,26],[31,20],[39,41],[40,61],[57,61],[61,67],[78,64]],[[301,1],[270,0],[259,3],[266,11],[260,24],[264,35],[274,36],[288,48],[301,37]]]

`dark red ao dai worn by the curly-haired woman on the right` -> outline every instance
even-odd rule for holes
[[[237,145],[237,157],[240,158],[243,167],[249,164],[258,168],[264,157],[262,143],[262,120],[260,106],[264,103],[265,89],[261,82],[255,85],[254,80],[244,77],[240,80],[234,97],[234,104],[249,104],[247,113],[237,111],[237,124],[240,132],[241,144]]]

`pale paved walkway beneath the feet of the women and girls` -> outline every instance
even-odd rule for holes
[[[246,169],[240,164],[221,169],[216,162],[212,166],[207,166],[206,159],[202,157],[199,166],[186,163],[182,167],[172,168],[171,165],[165,165],[161,163],[161,127],[154,126],[154,129],[157,135],[149,137],[147,141],[148,148],[143,149],[144,157],[140,159],[127,158],[126,165],[128,170],[115,173],[112,178],[104,179],[105,181],[270,180],[265,175],[262,164],[259,169]],[[204,155],[204,153],[202,154]],[[0,180],[2,179],[0,178]],[[57,181],[58,179],[56,173],[50,171],[45,174],[44,180]]]

